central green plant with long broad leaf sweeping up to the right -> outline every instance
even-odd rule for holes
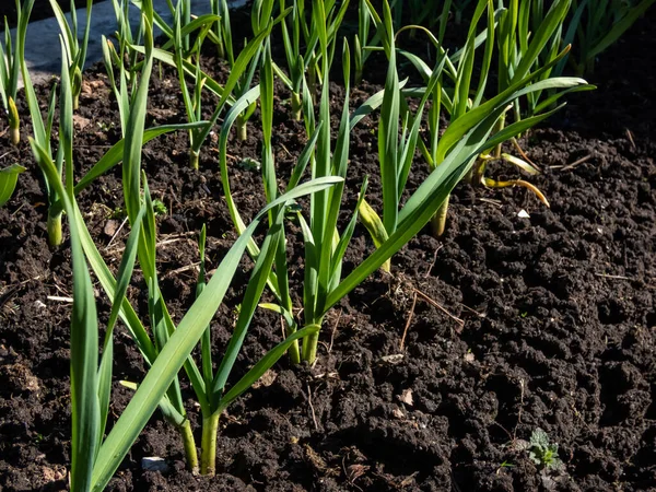
[[[391,24],[391,13],[387,2],[385,5],[385,23],[386,25]],[[484,5],[487,7],[487,5]],[[370,9],[373,7],[370,4]],[[483,9],[484,10],[484,9]],[[325,4],[320,0],[314,0],[313,2],[313,15],[316,16],[314,25],[319,26],[317,31],[318,47],[320,51],[320,73],[323,75],[323,85],[327,86],[329,83],[329,70],[328,62],[331,59],[331,50],[333,50],[333,44],[329,43],[328,30],[325,15]],[[376,19],[377,17],[377,19]],[[378,22],[379,16],[374,17]],[[382,25],[383,21],[379,21],[378,28],[384,30]],[[321,26],[324,26],[321,28]],[[389,33],[382,36],[382,39],[389,39]],[[391,52],[391,49],[390,49]],[[328,122],[331,120],[330,110],[330,98],[328,91],[321,92],[319,101],[318,115],[314,113],[314,106],[311,97],[303,98],[303,113],[306,125],[306,131],[308,134],[308,142],[304,151],[300,154],[298,161],[294,166],[292,174],[286,179],[284,190],[290,192],[298,186],[304,173],[309,168],[309,175],[314,178],[326,178],[337,177],[343,178],[347,175],[349,167],[349,147],[350,147],[350,132],[353,127],[360,121],[364,115],[371,113],[375,107],[383,104],[385,98],[384,94],[377,94],[372,97],[373,101],[368,101],[361,108],[358,108],[351,114],[349,108],[349,95],[350,95],[350,56],[349,46],[344,40],[342,50],[342,71],[344,75],[344,89],[345,98],[344,105],[340,117],[339,128],[336,132],[336,140],[331,143],[331,129]],[[445,65],[448,60],[445,60]],[[394,74],[390,77],[394,78]],[[257,97],[261,97],[261,113],[262,113],[262,128],[263,128],[263,140],[262,140],[262,179],[265,184],[265,195],[267,201],[274,199],[280,192],[280,176],[278,175],[274,162],[273,152],[271,147],[270,138],[268,137],[271,132],[272,127],[272,101],[273,101],[273,69],[270,56],[270,49],[267,48],[262,67],[260,69],[260,86],[256,86],[242,96],[235,102],[233,107],[226,114],[223,128],[219,138],[219,150],[220,150],[220,165],[221,165],[221,177],[224,189],[224,195],[229,204],[231,216],[235,224],[237,232],[243,233],[245,231],[245,222],[242,219],[239,211],[237,210],[236,203],[232,198],[232,190],[230,187],[229,179],[229,167],[227,167],[227,139],[231,131],[231,127],[234,125],[236,117],[244,107],[251,104]],[[436,75],[435,80],[438,79]],[[530,80],[530,79],[529,79]],[[435,84],[437,82],[435,81]],[[552,83],[550,81],[550,83]],[[555,82],[554,85],[559,86],[562,84],[578,83],[578,81],[560,81]],[[535,84],[536,87],[528,85],[528,81],[524,81],[523,85],[515,85],[512,90],[500,94],[495,98],[488,101],[484,105],[481,105],[481,109],[475,112],[472,115],[467,117],[465,121],[460,122],[460,128],[456,133],[453,129],[449,131],[447,138],[453,139],[449,145],[449,152],[445,155],[444,160],[429,175],[426,180],[410,196],[406,203],[397,210],[396,213],[396,227],[391,229],[378,247],[367,256],[362,263],[358,265],[354,270],[342,279],[342,259],[343,255],[349,246],[352,237],[354,227],[356,225],[358,211],[361,210],[363,203],[363,197],[366,191],[366,179],[363,178],[363,184],[360,190],[359,203],[355,204],[355,209],[352,211],[351,220],[348,224],[340,229],[338,226],[338,218],[342,211],[342,196],[344,190],[343,181],[340,181],[335,187],[314,194],[309,198],[308,207],[308,219],[305,219],[303,213],[303,207],[295,209],[295,214],[298,218],[298,223],[303,233],[303,243],[305,249],[305,280],[303,283],[303,306],[302,309],[295,309],[291,304],[290,285],[288,281],[288,268],[285,250],[281,248],[278,251],[274,266],[276,270],[269,274],[268,285],[271,289],[276,302],[267,303],[265,307],[279,313],[285,320],[288,327],[288,336],[297,332],[302,327],[320,327],[325,319],[328,311],[335,306],[342,297],[358,286],[366,277],[372,272],[382,267],[396,251],[398,251],[403,245],[406,245],[414,235],[417,235],[422,227],[429,223],[435,212],[447,199],[450,190],[458,181],[460,181],[466,174],[468,174],[478,157],[478,155],[487,149],[494,148],[499,142],[503,142],[522,131],[527,125],[535,124],[531,121],[519,121],[501,131],[497,131],[494,136],[491,136],[492,130],[495,128],[500,117],[508,110],[512,101],[523,95],[524,93],[531,92],[532,90],[541,90],[547,85],[544,82]],[[396,82],[390,82],[389,86],[396,86]],[[303,83],[304,93],[309,93],[308,83]],[[388,96],[388,101],[389,101]],[[394,112],[396,105],[389,105],[389,112]],[[400,109],[399,109],[400,110]],[[546,117],[546,116],[543,116]],[[412,125],[419,118],[412,120]],[[462,124],[466,124],[462,126]],[[398,128],[398,127],[397,127]],[[411,125],[407,126],[407,132],[410,133]],[[464,128],[464,131],[462,131]],[[448,130],[447,130],[448,131]],[[383,134],[390,134],[391,130],[385,130]],[[445,133],[446,134],[446,133]],[[456,137],[457,136],[457,137]],[[389,142],[394,145],[394,141],[398,139],[390,139]],[[393,147],[391,147],[393,148]],[[390,155],[391,150],[384,150],[384,155]],[[390,161],[394,162],[394,161]],[[405,163],[406,161],[403,161]],[[391,167],[391,165],[389,165]],[[388,165],[385,165],[385,169]],[[398,171],[398,169],[397,169]],[[386,173],[386,171],[383,171]],[[390,183],[386,184],[385,180],[389,179]],[[398,174],[386,173],[383,178],[383,187],[393,189],[391,184],[399,181]],[[282,181],[284,183],[284,181]],[[398,190],[398,188],[396,189]],[[396,191],[395,190],[395,191]],[[393,212],[387,212],[388,216],[394,216]],[[384,214],[385,215],[385,214]],[[269,218],[271,221],[271,216]],[[249,254],[257,258],[259,257],[259,248],[255,242],[250,242],[248,246]],[[303,318],[298,318],[295,313],[301,311]],[[290,348],[290,356],[293,362],[298,360],[313,363],[317,356],[317,345],[319,340],[319,332],[314,332],[306,337],[303,337],[301,347],[294,349]]]

